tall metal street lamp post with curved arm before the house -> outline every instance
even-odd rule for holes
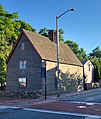
[[[69,11],[74,11],[74,9],[69,9],[66,10],[65,12],[63,12],[61,15],[56,16],[56,41],[57,41],[57,45],[56,45],[56,57],[57,57],[57,88],[58,88],[58,97],[60,96],[60,80],[59,80],[59,33],[58,33],[58,19],[60,17],[62,17],[64,14],[66,14]]]

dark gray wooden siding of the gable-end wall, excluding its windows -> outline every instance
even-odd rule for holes
[[[21,43],[25,43],[25,49],[21,49]],[[19,62],[26,60],[25,70],[19,69]],[[19,78],[27,78],[27,87],[19,87]],[[24,35],[21,37],[7,64],[7,90],[37,90],[42,89],[41,58]]]

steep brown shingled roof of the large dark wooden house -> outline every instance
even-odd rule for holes
[[[42,59],[56,61],[56,44],[51,42],[49,38],[27,30],[22,30],[20,36],[22,33],[27,36],[27,38],[32,43],[33,47],[36,49]],[[12,49],[7,62],[13,54],[14,49],[17,46],[19,40],[20,37],[16,41],[15,46]],[[72,52],[72,50],[66,44],[62,43],[59,44],[59,62],[70,65],[83,66],[82,63],[76,57],[76,55]]]

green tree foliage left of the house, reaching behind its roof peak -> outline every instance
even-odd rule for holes
[[[29,24],[17,20],[18,13],[4,11],[0,5],[0,83],[4,82],[6,76],[6,59],[19,35],[19,29],[35,32]]]

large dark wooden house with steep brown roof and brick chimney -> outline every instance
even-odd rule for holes
[[[59,44],[59,68],[62,91],[69,90],[69,86],[73,91],[82,90],[83,65],[63,43]],[[74,77],[78,86],[72,81],[67,85],[67,81]],[[53,94],[57,91],[56,79],[56,32],[50,30],[47,38],[22,30],[7,59],[6,90],[44,90],[46,80],[47,93]]]

